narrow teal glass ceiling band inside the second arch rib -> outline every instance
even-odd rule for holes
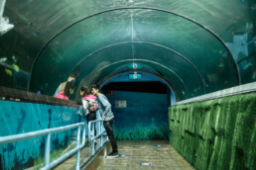
[[[136,58],[131,59],[131,48],[133,48]],[[166,58],[169,59],[166,60]],[[92,79],[96,82],[101,81],[106,76],[115,74],[115,70],[118,70],[122,64],[133,62],[151,66],[160,72],[160,75],[176,84],[178,89],[183,89],[181,92],[186,92],[187,97],[192,91],[195,91],[196,95],[204,94],[205,86],[202,77],[192,63],[168,48],[151,43],[127,42],[103,48],[93,55],[85,57],[74,67],[74,70],[81,70],[79,77],[84,77],[82,84],[86,84],[86,80],[87,83],[90,83]],[[125,68],[128,69],[128,65]],[[144,66],[142,68],[144,69]],[[190,86],[187,87],[189,84]],[[191,91],[187,89],[191,89]],[[192,92],[190,95],[195,94]]]

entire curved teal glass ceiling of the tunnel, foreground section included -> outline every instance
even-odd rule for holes
[[[20,72],[24,71],[23,76],[27,77],[28,83],[8,81],[9,84],[6,83],[5,86],[18,84],[14,87],[34,92],[40,90],[43,94],[53,95],[70,72],[78,73],[81,80],[87,78],[85,83],[91,84],[101,82],[116,73],[114,70],[124,62],[139,61],[150,65],[167,78],[177,91],[181,91],[177,92],[178,94],[184,92],[185,95],[181,95],[180,99],[235,86],[239,81],[255,81],[248,74],[241,74],[246,65],[240,64],[242,61],[230,53],[232,48],[225,45],[232,38],[231,33],[234,33],[237,26],[242,27],[247,22],[247,30],[253,32],[250,21],[254,22],[255,19],[251,19],[250,14],[254,12],[248,8],[252,2],[117,0],[113,3],[94,0],[84,3],[74,0],[66,6],[64,1],[44,1],[40,2],[42,8],[32,9],[32,6],[37,6],[33,0],[23,4],[14,4],[12,0],[7,2],[6,14],[9,14],[10,19],[16,15],[10,9],[12,5],[23,14],[24,23],[30,19],[33,19],[33,22],[29,27],[24,27],[24,30],[14,23],[17,27],[0,39],[0,43],[5,44],[3,40],[12,38],[12,35],[22,35],[21,39],[30,42],[28,46],[32,47],[27,51],[26,47],[18,47],[20,40],[15,49],[14,44],[8,46],[9,49],[19,51],[16,53],[26,56],[27,52],[30,55],[22,58],[25,64],[19,64]],[[49,8],[53,4],[54,8]],[[82,8],[85,6],[88,10]],[[227,6],[232,6],[232,11],[226,11]],[[198,7],[201,10],[197,10]],[[48,14],[35,20],[35,10],[46,9]],[[16,18],[21,19],[21,16]],[[33,31],[33,39],[29,38],[28,32],[25,34],[30,26],[38,26],[39,30]],[[9,43],[7,41],[7,44]],[[19,46],[24,47],[24,41]],[[32,58],[32,55],[37,57]],[[19,57],[17,54],[16,56]],[[253,68],[255,59],[250,58],[253,62],[250,62],[249,67]],[[33,62],[35,63],[32,64]],[[12,64],[9,64],[9,67],[11,69]],[[104,69],[99,71],[103,67]],[[16,73],[15,69],[12,71]],[[28,78],[30,74],[31,79]],[[15,74],[12,77],[15,77]],[[1,79],[5,80],[6,76]]]

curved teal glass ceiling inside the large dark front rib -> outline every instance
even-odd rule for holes
[[[82,63],[77,68],[86,76],[124,59],[169,68],[170,81],[181,79],[190,89],[186,98],[239,84],[231,53],[204,28],[164,11],[120,9],[81,20],[49,42],[33,67],[31,90],[52,95],[55,88],[49,87],[58,87],[76,63]],[[48,69],[42,73],[43,68]]]

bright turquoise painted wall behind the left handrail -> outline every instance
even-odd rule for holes
[[[80,121],[78,113],[81,110],[77,107],[14,101],[0,101],[0,106],[0,136],[63,127]],[[65,148],[74,130],[52,134],[51,151]],[[36,159],[44,157],[45,140],[45,136],[39,136],[0,145],[0,169],[24,169],[35,165]]]

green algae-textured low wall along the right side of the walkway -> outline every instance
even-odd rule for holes
[[[256,169],[256,93],[170,107],[169,124],[196,169]]]

